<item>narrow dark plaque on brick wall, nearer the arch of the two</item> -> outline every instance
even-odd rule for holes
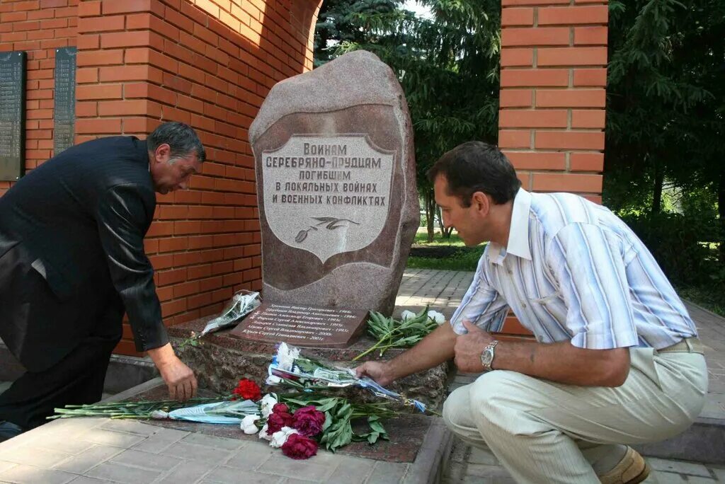
[[[73,146],[75,135],[75,56],[78,49],[55,49],[53,154]]]

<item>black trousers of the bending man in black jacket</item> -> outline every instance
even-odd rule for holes
[[[0,420],[30,429],[47,422],[57,407],[99,401],[119,339],[90,335],[48,370],[25,372],[0,394]]]

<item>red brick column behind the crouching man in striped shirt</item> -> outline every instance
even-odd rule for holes
[[[606,0],[502,0],[499,146],[533,191],[601,202]]]

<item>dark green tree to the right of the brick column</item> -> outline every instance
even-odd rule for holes
[[[609,31],[605,204],[655,217],[666,184],[701,193],[723,240],[725,2],[612,1]]]

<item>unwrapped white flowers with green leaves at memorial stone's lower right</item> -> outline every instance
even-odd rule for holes
[[[356,361],[376,349],[380,351],[379,356],[383,356],[385,351],[390,348],[409,348],[421,341],[445,321],[446,317],[442,313],[428,311],[428,306],[417,314],[405,310],[400,314],[400,320],[394,320],[392,317],[386,317],[379,312],[370,311],[368,334],[378,342],[363,351],[363,353],[355,356],[352,361]]]

